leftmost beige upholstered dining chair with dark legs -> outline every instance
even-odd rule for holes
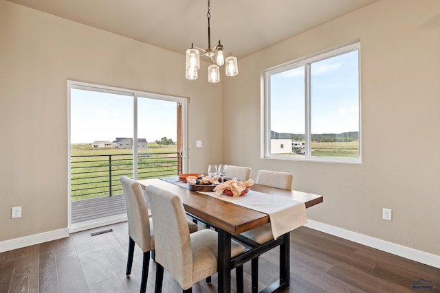
[[[150,252],[155,249],[153,220],[148,215],[148,205],[146,204],[144,191],[140,184],[127,176],[121,176],[120,182],[124,190],[127,222],[129,223],[129,255],[126,263],[126,277],[129,277],[131,274],[133,253],[135,244],[137,244],[144,255],[140,285],[140,292],[144,293],[148,279]],[[191,233],[198,230],[196,224],[189,220],[186,223],[186,228]]]

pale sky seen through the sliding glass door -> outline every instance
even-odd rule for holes
[[[138,134],[148,142],[177,139],[176,102],[139,97]],[[133,137],[133,97],[72,89],[71,143]]]

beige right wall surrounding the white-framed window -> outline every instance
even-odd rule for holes
[[[362,164],[260,159],[260,71],[360,39]],[[381,0],[239,60],[223,94],[227,163],[294,174],[316,220],[440,255],[440,1]],[[243,108],[245,110],[243,115]],[[240,115],[239,115],[240,113]],[[247,148],[242,148],[245,145]],[[382,208],[393,221],[382,220]]]

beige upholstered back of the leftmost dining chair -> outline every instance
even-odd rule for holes
[[[151,237],[150,218],[144,191],[139,183],[127,176],[121,176],[120,182],[124,189],[129,236],[142,249],[142,252],[154,250],[154,239]]]

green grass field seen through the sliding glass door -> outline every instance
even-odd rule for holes
[[[133,178],[131,153],[131,149],[92,148],[90,143],[72,144],[72,200],[121,194],[120,176]],[[139,150],[139,154],[138,178],[177,175],[176,145],[148,143],[148,149]]]

